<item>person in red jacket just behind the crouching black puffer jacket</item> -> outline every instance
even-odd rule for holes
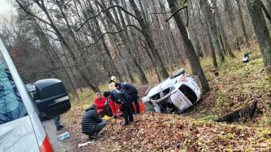
[[[109,105],[107,99],[105,97],[102,97],[101,93],[96,93],[96,97],[94,99],[94,104],[97,105],[97,113],[100,115],[100,117],[103,117],[105,114],[107,114],[106,106]]]

